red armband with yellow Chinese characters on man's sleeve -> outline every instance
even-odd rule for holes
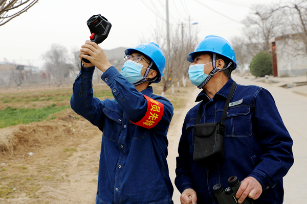
[[[141,127],[151,129],[161,120],[164,113],[164,105],[157,100],[153,100],[152,98],[145,96],[144,94],[143,96],[147,100],[147,112],[139,122],[131,122]]]

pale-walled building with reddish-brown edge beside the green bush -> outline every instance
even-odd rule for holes
[[[274,77],[306,75],[307,55],[299,34],[289,34],[270,40]]]

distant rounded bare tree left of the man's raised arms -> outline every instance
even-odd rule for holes
[[[63,80],[69,77],[69,62],[67,49],[59,44],[52,44],[51,48],[42,56],[46,61],[45,69],[52,74],[53,82],[57,86],[63,84]]]

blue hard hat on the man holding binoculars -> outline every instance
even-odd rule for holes
[[[187,56],[187,60],[189,62],[193,62],[194,54],[199,52],[212,52],[225,56],[234,62],[234,67],[232,70],[236,68],[234,49],[232,48],[231,44],[224,38],[215,35],[206,36],[200,43],[198,43],[194,52]]]

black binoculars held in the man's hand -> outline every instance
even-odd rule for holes
[[[213,191],[215,197],[217,198],[220,204],[236,204],[238,203],[238,199],[235,197],[236,192],[238,191],[241,182],[239,182],[238,178],[234,175],[229,177],[228,183],[230,187],[224,188],[221,184],[216,184],[213,186]],[[249,197],[245,198],[242,204],[253,204],[253,200]]]

